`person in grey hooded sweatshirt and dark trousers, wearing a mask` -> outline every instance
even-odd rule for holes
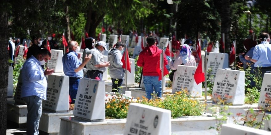
[[[121,62],[121,58],[124,46],[123,42],[118,42],[108,53],[108,60],[110,61],[108,68],[112,80],[112,92],[119,92],[123,82],[124,69],[122,68],[123,63]]]

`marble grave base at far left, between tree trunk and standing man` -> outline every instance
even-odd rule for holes
[[[26,123],[26,116],[27,116],[26,105],[14,102],[7,102],[7,120],[18,124],[23,124]]]

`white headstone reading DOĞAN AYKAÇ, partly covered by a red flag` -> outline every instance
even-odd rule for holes
[[[201,96],[201,83],[196,84],[194,74],[197,67],[179,65],[175,72],[172,93],[185,89],[192,96]]]

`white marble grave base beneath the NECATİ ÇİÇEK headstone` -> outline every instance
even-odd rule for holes
[[[73,111],[64,113],[55,113],[48,110],[42,110],[42,116],[39,122],[39,130],[42,131],[40,135],[54,135],[59,134],[60,119],[63,116],[72,116]]]

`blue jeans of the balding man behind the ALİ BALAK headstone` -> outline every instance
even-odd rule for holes
[[[69,79],[70,79],[69,80],[69,83],[70,83],[69,94],[70,94],[70,97],[71,97],[71,104],[74,104],[75,99],[76,99],[76,94],[77,94],[80,78],[70,77]]]

